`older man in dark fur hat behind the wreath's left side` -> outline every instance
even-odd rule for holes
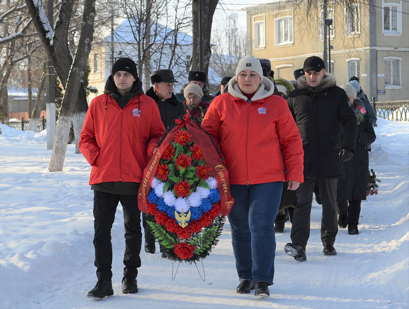
[[[167,130],[175,125],[175,120],[187,113],[184,104],[179,101],[173,93],[173,84],[177,82],[173,76],[172,70],[160,69],[151,75],[152,87],[146,91],[146,95],[153,98],[159,107],[160,118]],[[146,222],[146,214],[142,214],[143,228],[145,230],[145,252],[155,253],[155,237],[152,235],[149,225]],[[163,249],[160,247],[160,251]],[[162,257],[166,254],[162,252]]]

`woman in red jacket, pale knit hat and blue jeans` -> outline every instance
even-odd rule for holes
[[[295,190],[303,181],[301,138],[285,99],[273,95],[259,60],[239,61],[228,93],[217,96],[201,124],[220,141],[232,196],[229,223],[238,293],[269,296],[273,284],[274,219],[282,182]]]

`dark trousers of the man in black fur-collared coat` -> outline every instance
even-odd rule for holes
[[[323,245],[334,245],[338,233],[337,216],[338,178],[320,179],[320,195],[323,201],[321,219],[321,240]],[[310,238],[310,215],[313,202],[315,180],[306,180],[297,189],[297,205],[294,209],[291,227],[291,242],[304,249]]]

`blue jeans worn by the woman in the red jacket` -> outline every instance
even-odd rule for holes
[[[231,184],[234,205],[228,218],[239,279],[273,284],[274,220],[280,205],[282,181]]]

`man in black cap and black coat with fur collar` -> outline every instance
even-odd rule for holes
[[[316,56],[304,61],[304,75],[298,88],[287,99],[298,126],[304,150],[304,182],[297,189],[297,205],[291,228],[291,242],[285,252],[297,261],[305,261],[310,237],[310,213],[314,184],[318,180],[323,201],[321,240],[325,255],[336,255],[338,232],[337,182],[344,176],[343,162],[352,158],[357,122],[343,89],[333,75],[325,71],[324,61]],[[341,141],[341,132],[343,138]]]

